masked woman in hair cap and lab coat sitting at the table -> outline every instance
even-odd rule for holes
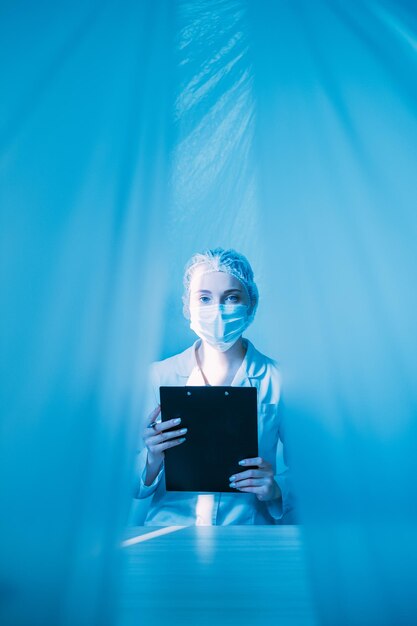
[[[156,408],[148,417],[139,457],[136,497],[151,498],[147,525],[279,523],[291,507],[288,470],[277,474],[283,442],[278,413],[280,376],[275,361],[242,337],[253,321],[258,290],[247,259],[216,248],[195,254],[184,276],[184,314],[199,339],[184,352],[154,363],[151,386]],[[183,385],[255,386],[258,389],[260,457],[241,459],[229,477],[233,493],[166,492],[164,452],[187,438],[180,420],[159,420],[159,387]],[[171,432],[167,429],[176,427]],[[283,448],[281,445],[283,454]],[[245,465],[251,469],[245,470]],[[253,469],[255,467],[255,469]]]

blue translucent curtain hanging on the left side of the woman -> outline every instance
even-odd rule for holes
[[[173,7],[1,14],[0,622],[102,626],[163,310]]]

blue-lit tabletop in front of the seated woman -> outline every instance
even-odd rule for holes
[[[119,626],[317,624],[298,527],[171,529],[129,529]]]

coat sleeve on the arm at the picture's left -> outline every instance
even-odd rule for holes
[[[145,466],[147,460],[147,450],[145,444],[143,442],[142,433],[146,428],[147,420],[149,414],[155,409],[155,407],[159,404],[159,375],[157,364],[152,363],[149,368],[148,375],[148,384],[145,398],[145,410],[144,417],[142,419],[142,427],[141,427],[141,436],[139,442],[138,454],[136,457],[135,463],[135,478],[134,478],[134,488],[133,488],[133,496],[134,498],[149,498],[157,489],[158,484],[163,476],[164,465],[162,464],[161,470],[159,471],[158,476],[155,478],[151,485],[145,485],[144,483],[144,473]]]

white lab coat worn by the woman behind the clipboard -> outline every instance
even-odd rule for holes
[[[254,494],[240,492],[166,492],[163,465],[155,481],[146,486],[143,482],[147,454],[144,448],[138,455],[134,496],[152,498],[145,525],[276,524],[292,508],[282,416],[278,411],[281,394],[278,366],[256,350],[249,340],[244,341],[247,344],[246,355],[232,386],[251,386],[258,390],[259,455],[273,465],[282,500],[262,502]],[[152,364],[148,413],[160,401],[160,386],[205,384],[195,353],[199,343],[200,340],[197,340],[184,352]]]

